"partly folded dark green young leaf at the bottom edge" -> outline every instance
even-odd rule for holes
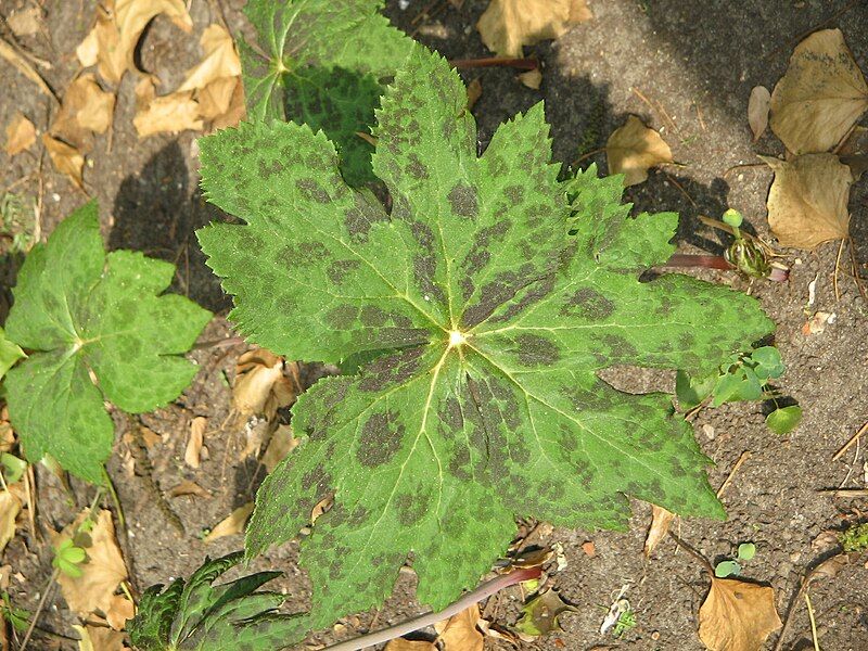
[[[257,591],[280,572],[258,572],[212,585],[238,565],[243,556],[237,552],[215,560],[206,558],[190,580],[177,578],[165,590],[162,585],[148,588],[138,613],[127,625],[136,648],[271,651],[286,646],[292,635],[298,636],[301,620],[276,612],[283,596]]]

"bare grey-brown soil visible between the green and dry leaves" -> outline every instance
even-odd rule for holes
[[[25,7],[30,0],[0,0],[0,14]],[[76,72],[74,50],[94,15],[94,0],[44,0],[47,33],[23,44],[52,63],[44,75],[62,91]],[[202,29],[215,22],[214,8],[221,7],[234,34],[246,29],[240,14],[241,0],[207,2],[192,0],[194,34],[180,35],[168,21],[158,17],[146,30],[139,49],[140,65],[156,73],[164,86],[174,88],[183,72],[199,58]],[[468,0],[460,10],[445,8],[420,24],[412,21],[427,2],[413,0],[401,10],[394,0],[387,14],[394,23],[451,59],[486,56],[474,25],[486,2]],[[532,49],[545,66],[539,91],[515,80],[514,72],[486,69],[469,72],[465,80],[480,78],[483,94],[473,113],[484,146],[497,125],[536,102],[545,100],[552,125],[554,155],[570,163],[602,148],[609,133],[629,113],[662,129],[675,159],[684,166],[654,171],[648,182],[631,188],[626,197],[639,210],[677,210],[681,215],[678,242],[686,252],[719,253],[722,240],[703,227],[698,215],[719,217],[732,206],[741,210],[751,227],[767,235],[765,197],[771,180],[757,153],[781,154],[782,146],[767,132],[751,142],[745,110],[752,87],[773,88],[783,74],[795,43],[809,30],[838,26],[846,37],[856,61],[868,71],[868,9],[863,2],[843,0],[743,0],[729,2],[684,2],[680,0],[592,0],[595,17],[573,29],[558,42]],[[35,87],[0,61],[0,125],[15,111],[23,111],[40,131],[48,126],[50,104]],[[97,140],[85,171],[87,195],[100,202],[106,242],[112,248],[129,247],[178,263],[175,290],[216,310],[202,341],[229,333],[224,317],[229,301],[203,264],[193,231],[212,219],[224,219],[207,206],[197,191],[194,140],[197,133],[152,137],[140,141],[132,128],[135,111],[133,75],[122,82],[111,137]],[[35,149],[34,151],[39,151]],[[0,153],[0,188],[39,197],[44,238],[86,193],[56,174],[47,156],[23,154],[9,159]],[[604,156],[590,155],[582,165]],[[25,180],[21,180],[27,177]],[[856,255],[868,260],[868,183],[857,183],[850,208]],[[713,562],[728,557],[741,541],[754,541],[757,553],[744,575],[767,582],[776,589],[777,607],[784,613],[795,595],[805,567],[817,560],[812,541],[829,528],[840,528],[845,518],[858,518],[867,506],[865,497],[835,498],[825,489],[845,485],[866,488],[868,456],[865,447],[854,448],[839,461],[832,455],[868,419],[868,306],[859,297],[846,271],[840,277],[835,297],[832,271],[838,246],[829,243],[814,253],[786,251],[792,265],[788,283],[754,282],[726,272],[706,272],[704,278],[751,291],[778,323],[776,345],[787,362],[782,380],[786,391],[804,408],[804,421],[788,436],[771,434],[764,424],[758,404],[726,405],[704,410],[695,420],[697,437],[716,463],[710,470],[713,486],[720,486],[745,451],[750,457],[732,477],[723,501],[726,522],[684,520],[679,535]],[[5,282],[14,279],[16,259],[4,265]],[[846,267],[846,265],[844,265]],[[816,283],[816,302],[808,306],[808,283]],[[7,292],[8,298],[8,292]],[[833,312],[833,323],[821,334],[806,335],[803,326],[816,310]],[[214,526],[230,510],[251,499],[261,472],[256,463],[238,460],[242,447],[241,426],[209,434],[209,460],[199,470],[183,463],[190,420],[208,419],[216,429],[229,412],[234,361],[243,346],[200,349],[191,357],[202,367],[194,384],[175,404],[138,419],[116,416],[117,446],[110,474],[126,514],[127,528],[119,539],[130,569],[135,589],[189,575],[205,554],[219,556],[241,547],[240,536],[210,545],[201,533]],[[672,390],[672,376],[622,370],[613,382],[631,391],[649,386]],[[142,424],[163,436],[150,450],[152,478],[130,476],[124,460],[131,454],[125,433]],[[865,442],[865,443],[868,443]],[[141,467],[138,465],[139,473]],[[56,480],[38,470],[39,523],[61,528],[92,496],[86,486],[73,482],[76,505],[71,505]],[[213,495],[210,499],[180,497],[167,492],[182,480],[193,480]],[[159,494],[180,518],[184,532],[175,528],[157,507]],[[590,648],[702,649],[697,637],[697,613],[707,589],[707,578],[688,554],[665,541],[650,560],[642,556],[642,541],[650,507],[636,502],[628,533],[587,532],[556,528],[544,531],[536,541],[563,546],[567,566],[554,575],[561,596],[576,607],[561,616],[563,631],[522,649]],[[527,523],[523,523],[526,531]],[[592,541],[596,556],[588,557],[582,544]],[[295,544],[271,550],[256,560],[254,569],[280,569],[286,574],[276,582],[286,592],[288,609],[306,607],[309,585],[296,565]],[[29,611],[36,604],[51,574],[50,546],[28,534],[10,544],[3,559],[24,583],[13,579],[13,602]],[[622,638],[598,634],[605,610],[617,590],[629,584],[627,597],[636,612],[637,626]],[[842,570],[833,579],[818,583],[812,599],[818,624],[818,641],[830,651],[868,649],[868,569],[859,562]],[[346,621],[340,635],[321,631],[316,642],[346,638],[369,626],[398,622],[419,612],[413,599],[413,578],[401,573],[395,593],[381,612],[363,613]],[[499,624],[514,623],[521,595],[518,588],[502,593],[487,612]],[[810,649],[808,618],[803,603],[796,603],[793,626],[784,649]],[[40,630],[31,649],[75,649],[69,639],[75,616],[54,591],[42,613]],[[63,637],[67,636],[67,637]],[[774,641],[771,636],[770,642]],[[498,642],[488,641],[493,648]],[[501,646],[508,647],[499,642]],[[602,647],[601,647],[602,646]]]

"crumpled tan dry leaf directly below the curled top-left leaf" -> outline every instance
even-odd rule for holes
[[[63,94],[61,110],[49,132],[86,154],[93,146],[93,133],[104,133],[112,125],[114,110],[114,93],[100,88],[92,74],[81,75]]]

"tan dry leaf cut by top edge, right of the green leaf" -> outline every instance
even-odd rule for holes
[[[524,46],[560,38],[591,17],[586,0],[492,0],[476,29],[498,56],[521,58]]]

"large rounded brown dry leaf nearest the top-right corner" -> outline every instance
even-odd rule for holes
[[[794,154],[828,151],[868,108],[868,85],[840,29],[799,43],[771,93],[771,130]]]

